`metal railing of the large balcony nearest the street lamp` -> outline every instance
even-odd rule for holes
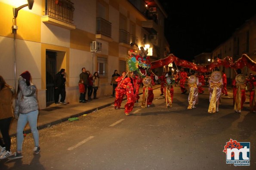
[[[45,15],[73,24],[74,3],[69,0],[45,0]]]

